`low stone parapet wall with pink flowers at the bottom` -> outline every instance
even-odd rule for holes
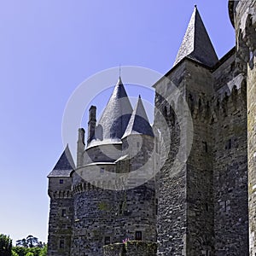
[[[150,241],[127,241],[103,247],[104,256],[156,256],[157,244]]]

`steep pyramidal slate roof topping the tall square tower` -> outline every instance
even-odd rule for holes
[[[184,57],[199,61],[208,67],[212,67],[218,61],[218,56],[212,46],[211,39],[208,36],[196,5],[183,42],[177,52],[174,66],[183,60]]]

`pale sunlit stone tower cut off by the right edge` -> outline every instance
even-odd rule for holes
[[[256,2],[230,1],[237,62],[247,84],[247,157],[250,255],[256,254]]]

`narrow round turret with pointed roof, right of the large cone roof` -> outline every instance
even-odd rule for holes
[[[137,176],[125,184],[127,188],[132,186],[132,189],[125,188],[124,191],[119,192],[123,198],[124,206],[121,213],[124,216],[119,216],[116,229],[123,226],[125,236],[130,240],[154,242],[156,237],[154,132],[148,122],[140,96],[122,137],[122,152],[125,158],[119,160],[117,172],[124,172],[123,166],[126,162],[128,166],[126,172],[137,172]]]

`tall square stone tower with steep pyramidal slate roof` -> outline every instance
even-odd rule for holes
[[[158,177],[158,255],[212,255],[214,251],[212,128],[206,120],[210,119],[206,108],[207,99],[213,96],[211,67],[217,61],[195,7],[174,67],[166,73],[166,78],[154,84],[154,126],[161,137],[167,137],[167,132],[171,137],[170,153]],[[178,89],[176,95],[172,83]],[[199,96],[203,96],[201,109],[196,106]],[[190,113],[184,102],[189,102]],[[164,125],[158,111],[165,117],[169,131],[162,131]],[[207,116],[201,119],[199,112]],[[188,126],[190,115],[193,127]],[[194,137],[189,158],[180,159],[173,166],[179,150],[183,156],[187,154],[191,135]]]

